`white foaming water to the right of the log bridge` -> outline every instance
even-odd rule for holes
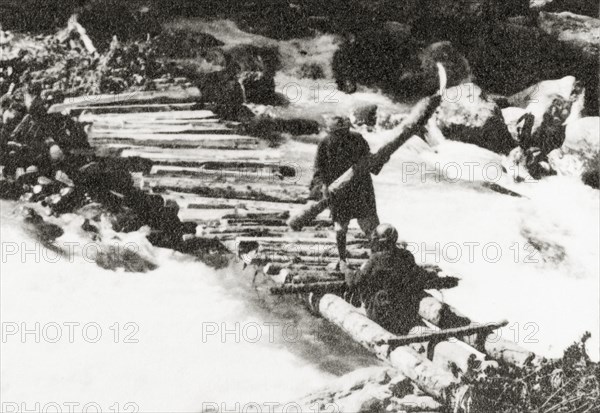
[[[500,161],[489,151],[414,139],[374,178],[378,210],[418,262],[461,278],[458,288],[436,294],[476,321],[509,320],[503,337],[543,356],[562,355],[590,331],[587,349],[598,360],[598,191],[564,176],[511,184],[510,176],[486,175]],[[471,175],[465,160],[476,164]],[[463,170],[449,177],[450,164]]]

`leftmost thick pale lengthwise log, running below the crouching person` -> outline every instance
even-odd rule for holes
[[[394,334],[369,320],[359,309],[336,295],[325,294],[319,302],[319,312],[379,359],[389,361],[421,390],[444,402],[450,399],[452,403],[449,388],[457,385],[458,379],[410,347],[392,350],[387,344],[379,344],[392,340]]]

